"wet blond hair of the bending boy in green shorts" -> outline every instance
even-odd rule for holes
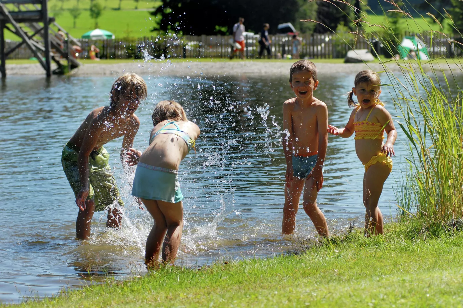
[[[109,97],[111,99],[110,106],[113,107],[113,104],[119,102],[120,94],[125,94],[129,89],[135,90],[139,101],[146,99],[148,88],[143,78],[134,73],[127,73],[114,81],[111,92],[109,92]]]

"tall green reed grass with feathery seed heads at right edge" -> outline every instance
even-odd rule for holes
[[[373,36],[394,55],[402,40],[397,31],[397,18],[406,18],[408,25],[418,25],[412,16],[418,12],[406,11],[394,0],[380,1],[385,1],[381,3],[383,5],[394,5],[393,10],[383,10],[386,21],[381,25],[365,21],[367,13],[356,10],[345,0],[332,0],[331,3],[338,8],[349,6],[358,18],[351,20],[356,29],[349,32],[354,36],[352,49],[355,49],[357,37],[367,39],[367,32],[374,29]],[[413,8],[411,5],[407,7]],[[431,12],[427,16],[437,20]],[[426,20],[423,16],[420,18]],[[451,16],[447,13],[444,18],[461,37]],[[435,32],[431,25],[424,31]],[[448,36],[446,38],[461,54],[463,46]],[[431,46],[427,46],[428,50],[433,43],[431,41]],[[371,50],[375,53],[373,43]],[[423,227],[434,234],[463,217],[463,91],[455,77],[455,74],[462,74],[463,69],[461,59],[450,56],[439,61],[393,58],[382,61],[383,71],[378,72],[388,76],[388,84],[382,85],[383,91],[386,89],[391,94],[399,114],[396,122],[409,145],[408,153],[401,153],[407,160],[408,172],[395,177],[399,179],[396,183],[399,217],[423,222]]]

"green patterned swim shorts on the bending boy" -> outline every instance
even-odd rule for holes
[[[69,144],[64,146],[61,154],[61,164],[75,197],[82,188],[77,166],[78,155],[79,149]],[[101,147],[99,150],[90,153],[88,157],[88,179],[89,193],[87,200],[95,200],[95,211],[105,210],[116,200],[119,206],[124,206],[116,180],[109,166],[109,154],[105,148]]]

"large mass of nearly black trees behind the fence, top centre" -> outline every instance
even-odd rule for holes
[[[151,15],[159,21],[159,28],[153,31],[231,34],[233,25],[243,17],[246,31],[258,32],[263,23],[269,23],[269,33],[276,33],[276,26],[285,22],[293,23],[296,29],[307,30],[307,25],[297,24],[302,24],[298,21],[299,12],[306,12],[307,7],[305,0],[164,0]],[[310,7],[315,8],[316,4]]]

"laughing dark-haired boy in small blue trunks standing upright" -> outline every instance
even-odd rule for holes
[[[283,234],[294,233],[299,199],[304,188],[304,210],[318,233],[329,236],[325,216],[317,207],[328,144],[328,109],[324,102],[313,97],[318,84],[315,64],[300,60],[291,66],[289,85],[296,97],[283,104],[283,129],[286,132],[283,151],[287,165]]]

